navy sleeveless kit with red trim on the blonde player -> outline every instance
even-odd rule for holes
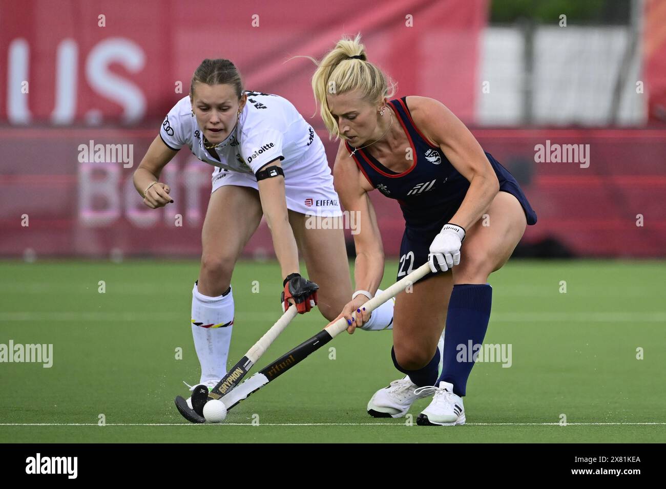
[[[432,146],[414,125],[406,97],[391,100],[389,104],[407,134],[414,163],[408,170],[396,173],[364,149],[356,150],[354,160],[374,188],[400,203],[405,218],[405,234],[400,247],[400,278],[426,263],[432,240],[460,208],[470,182],[454,168],[442,150]],[[348,142],[345,144],[351,153],[354,148]],[[525,211],[527,224],[536,224],[537,215],[518,182],[492,154],[486,152],[486,157],[498,177],[500,192],[515,196]]]

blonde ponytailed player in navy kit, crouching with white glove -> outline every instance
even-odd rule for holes
[[[416,399],[434,394],[418,424],[464,424],[462,397],[474,362],[467,355],[458,361],[458,345],[483,344],[488,275],[506,263],[537,216],[515,178],[444,104],[422,96],[390,100],[394,87],[368,62],[360,36],[342,39],[318,63],[312,88],[326,127],[342,138],[334,185],[344,208],[360,213],[355,279],[367,297],[342,309],[348,331],[368,321],[359,308],[384,273],[369,192],[376,188],[400,203],[405,231],[398,279],[424,263],[432,270],[411,293],[396,297],[391,356],[406,377],[377,391],[368,413],[404,416]]]

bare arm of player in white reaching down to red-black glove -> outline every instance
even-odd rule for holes
[[[280,160],[273,160],[266,166],[280,166]],[[282,278],[290,273],[298,273],[298,247],[294,232],[289,224],[286,197],[284,194],[284,177],[282,175],[265,178],[258,182],[259,198],[266,216],[273,248],[280,263]]]

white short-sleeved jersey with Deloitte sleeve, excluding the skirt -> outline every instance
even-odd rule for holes
[[[248,100],[236,128],[210,151],[204,148],[189,96],[181,98],[169,111],[160,136],[169,148],[188,146],[197,158],[224,170],[254,174],[276,158],[282,160],[285,176],[302,170],[290,166],[318,138],[312,126],[286,98],[260,92],[246,94]]]

